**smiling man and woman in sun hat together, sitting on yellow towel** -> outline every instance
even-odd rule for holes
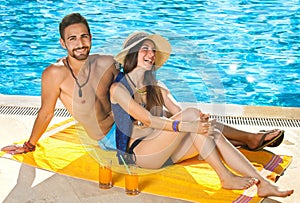
[[[225,189],[246,189],[256,184],[261,197],[293,193],[279,190],[262,177],[232,145],[252,150],[266,144],[276,146],[283,131],[248,133],[210,121],[209,115],[198,109],[182,110],[168,89],[155,80],[153,71],[168,60],[171,52],[166,39],[141,32],[129,36],[116,56],[123,65],[124,73],[120,73],[112,56],[89,55],[92,35],[80,14],[67,15],[59,30],[60,43],[68,55],[42,74],[41,107],[31,136],[23,146],[10,145],[3,151],[34,151],[59,98],[102,148],[117,148],[115,136],[129,133],[129,146],[140,167],[159,168],[167,160],[176,163],[200,155],[216,170]],[[230,172],[221,157],[241,176]]]

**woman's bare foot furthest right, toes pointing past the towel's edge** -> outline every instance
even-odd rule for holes
[[[268,182],[261,181],[257,184],[257,195],[259,197],[287,197],[293,194],[294,190],[281,190],[276,185]]]

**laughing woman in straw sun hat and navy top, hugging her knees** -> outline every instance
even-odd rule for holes
[[[153,72],[169,58],[171,46],[160,35],[137,32],[124,42],[116,60],[124,75],[110,89],[117,132],[129,138],[129,154],[142,168],[160,168],[199,155],[216,171],[224,189],[247,189],[256,184],[258,196],[285,197],[262,177],[252,164],[214,129],[215,121],[195,108],[181,111],[169,90],[155,80]],[[166,111],[171,117],[166,117]],[[117,140],[117,144],[126,141]],[[124,147],[124,146],[123,146]],[[124,155],[124,154],[123,154]],[[221,158],[222,157],[222,158]],[[223,161],[236,173],[224,165]]]

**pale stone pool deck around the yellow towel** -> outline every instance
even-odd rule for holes
[[[1,106],[39,107],[39,97],[0,95]],[[182,104],[194,106],[195,104]],[[62,107],[58,103],[57,107]],[[252,107],[240,105],[201,104],[205,112],[246,117],[276,117],[300,119],[300,108]],[[35,116],[3,115],[0,113],[0,148],[30,136]],[[65,118],[55,117],[51,124]],[[268,126],[236,125],[239,129],[257,131]],[[296,203],[300,201],[300,128],[281,127],[286,131],[285,140],[276,148],[266,148],[276,154],[293,156],[293,162],[277,182],[282,188],[295,189],[287,198],[266,198],[264,203]],[[100,190],[95,182],[85,181],[0,158],[0,202],[186,202],[157,195],[141,193],[131,197],[122,188]]]

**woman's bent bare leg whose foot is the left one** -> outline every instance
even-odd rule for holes
[[[188,118],[185,118],[185,115],[188,115]],[[198,119],[199,111],[188,109],[178,116],[181,116],[181,119]],[[155,133],[157,134],[153,139],[142,141],[134,150],[139,166],[159,168],[170,156],[173,161],[178,161],[200,153],[215,169],[223,188],[246,189],[255,184],[253,178],[234,175],[224,166],[212,137],[167,131]]]

